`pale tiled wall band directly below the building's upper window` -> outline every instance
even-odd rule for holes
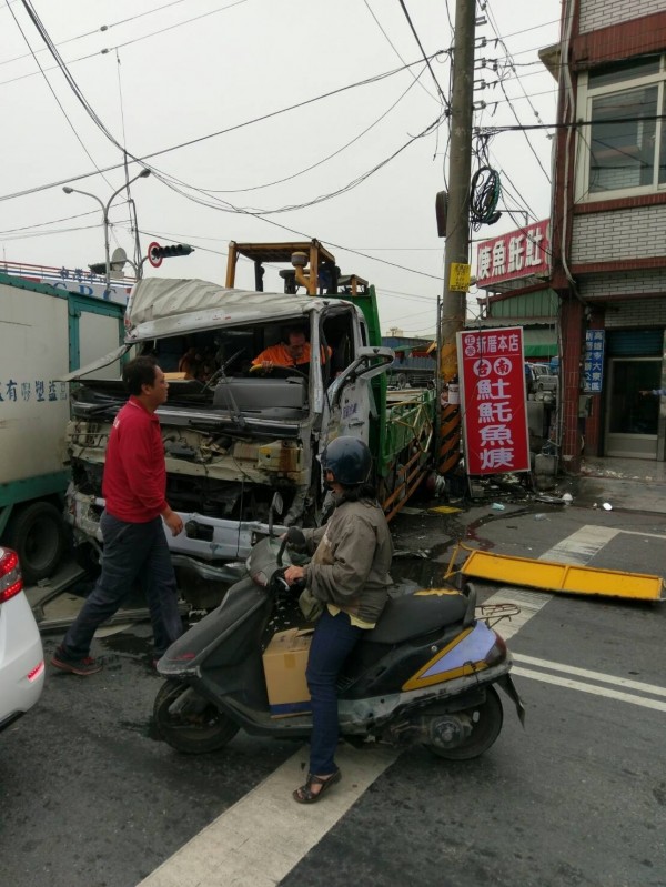
[[[666,204],[574,216],[572,262],[659,258],[666,248]]]

